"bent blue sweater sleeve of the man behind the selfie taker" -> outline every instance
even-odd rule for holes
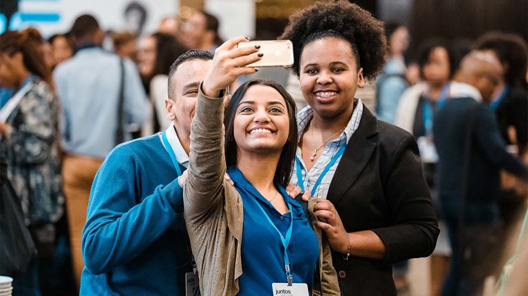
[[[138,175],[138,159],[126,146],[115,148],[96,174],[81,242],[90,273],[107,273],[133,260],[176,220],[182,207],[178,179],[136,204]]]

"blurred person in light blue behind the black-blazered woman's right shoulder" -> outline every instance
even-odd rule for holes
[[[384,24],[388,42],[388,60],[376,81],[376,115],[378,119],[394,124],[400,96],[407,89],[405,58],[409,47],[409,30],[402,23]]]

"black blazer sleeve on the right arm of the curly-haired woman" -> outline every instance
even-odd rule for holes
[[[383,190],[392,226],[372,231],[386,246],[384,264],[430,255],[440,230],[412,135],[397,146]]]

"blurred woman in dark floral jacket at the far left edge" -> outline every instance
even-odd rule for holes
[[[13,294],[40,295],[39,261],[50,258],[54,223],[63,214],[59,102],[38,31],[4,32],[0,44],[0,86],[14,89],[0,109],[0,144],[7,150],[10,183],[38,250],[25,275],[14,280]]]

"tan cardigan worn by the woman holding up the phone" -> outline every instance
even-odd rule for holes
[[[204,296],[236,295],[242,275],[242,198],[224,181],[224,102],[198,93],[196,115],[191,126],[191,153],[184,184],[184,217]],[[310,220],[319,238],[319,272],[314,291],[319,295],[341,295],[332,266],[328,242],[321,244],[321,229],[313,214],[315,199],[308,203]],[[317,278],[319,276],[319,278]],[[271,292],[271,287],[270,287]]]

